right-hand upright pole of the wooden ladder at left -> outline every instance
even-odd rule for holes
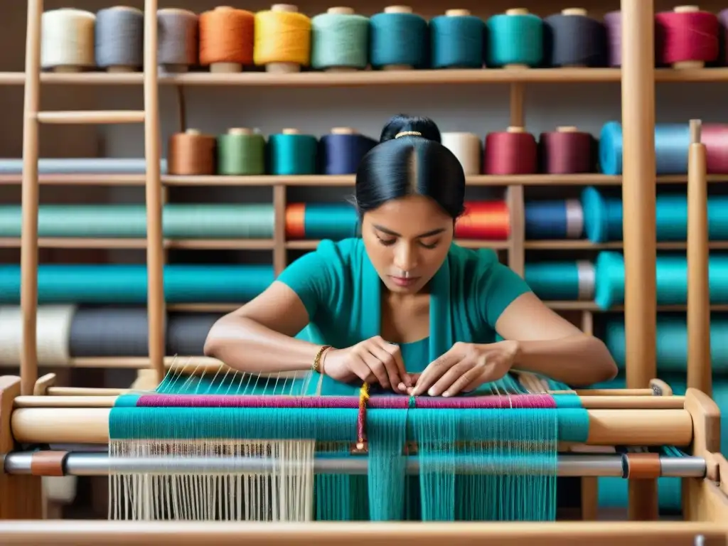
[[[144,1],[144,156],[149,361],[157,382],[165,377],[165,283],[157,82],[157,0]]]

